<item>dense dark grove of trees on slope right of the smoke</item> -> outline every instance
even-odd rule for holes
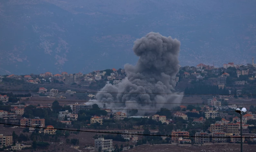
[[[219,88],[217,85],[197,84],[194,87],[186,87],[184,94],[229,94],[229,91],[224,88]]]

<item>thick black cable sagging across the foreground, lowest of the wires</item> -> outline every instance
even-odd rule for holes
[[[40,128],[40,129],[52,129],[47,127],[37,127],[37,126],[25,126],[19,124],[5,124],[4,125],[12,125],[12,126],[20,126],[20,127],[32,127],[32,128]],[[101,131],[86,131],[86,130],[72,130],[72,129],[61,129],[61,128],[54,128],[56,130],[64,130],[64,131],[78,131],[78,132],[94,132],[94,133],[109,133],[109,134],[125,134],[125,135],[141,135],[141,136],[163,136],[163,137],[200,137],[200,138],[209,138],[205,136],[173,136],[173,135],[149,135],[149,134],[139,134],[139,133],[121,133],[121,132],[101,132]],[[232,137],[213,137],[213,138],[232,138]],[[256,137],[243,137],[243,138],[256,138]]]

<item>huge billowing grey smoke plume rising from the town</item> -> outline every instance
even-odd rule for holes
[[[179,71],[179,48],[177,39],[159,33],[150,32],[137,39],[133,46],[134,53],[139,56],[136,65],[125,64],[127,77],[119,84],[106,84],[89,104],[98,101],[100,107],[105,103],[106,108],[128,113],[130,109],[138,109],[136,115],[153,114],[160,108],[177,106],[168,103],[180,103],[183,97],[172,94],[176,84],[173,78]]]

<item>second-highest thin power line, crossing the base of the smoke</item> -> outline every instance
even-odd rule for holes
[[[55,98],[55,100],[57,100],[58,98]],[[51,100],[20,100],[20,101],[31,101],[31,102],[33,102],[33,101],[51,101]],[[52,101],[52,102],[54,102],[54,101]],[[146,104],[154,104],[154,103],[156,103],[156,104],[188,104],[188,105],[190,105],[190,104],[193,104],[193,105],[208,105],[208,104],[203,104],[203,103],[164,103],[164,102],[115,102],[115,101],[113,101],[113,102],[111,102],[111,101],[105,101],[105,102],[103,102],[103,101],[70,101],[70,100],[67,100],[67,101],[64,101],[64,100],[58,100],[58,102],[99,102],[99,103],[146,103]],[[234,105],[234,104],[221,104],[221,105]],[[246,104],[246,103],[243,103],[243,104],[237,104],[237,105],[256,105],[256,103],[255,104]]]

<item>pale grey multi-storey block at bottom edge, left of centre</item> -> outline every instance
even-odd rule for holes
[[[100,147],[102,149],[102,152],[114,150],[113,140],[112,139],[105,140],[104,138],[98,138],[94,140],[94,151],[98,151]]]

